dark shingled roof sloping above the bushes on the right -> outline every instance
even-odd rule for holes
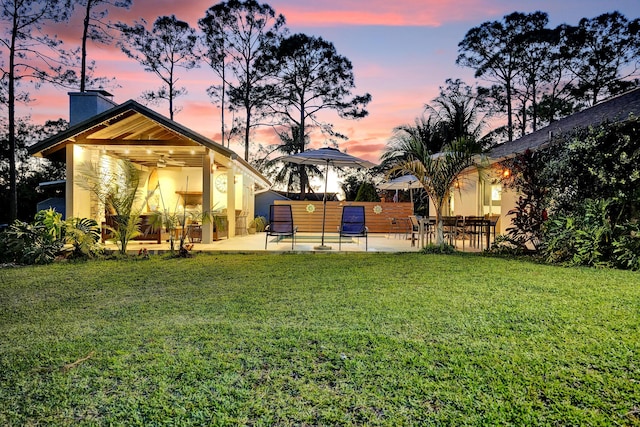
[[[515,141],[498,145],[489,152],[489,157],[503,159],[526,150],[543,148],[551,142],[552,137],[559,134],[571,133],[577,128],[599,125],[605,121],[624,121],[631,114],[640,116],[640,88],[606,99]]]

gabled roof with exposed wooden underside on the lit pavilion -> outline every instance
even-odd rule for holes
[[[84,120],[68,129],[29,147],[29,154],[52,160],[65,160],[67,144],[82,143],[109,147],[114,152],[123,145],[205,147],[239,165],[254,175],[259,185],[270,187],[271,183],[258,170],[238,155],[213,140],[170,120],[161,114],[129,100],[107,111]],[[176,150],[180,151],[180,150]],[[202,167],[202,156],[190,155],[191,149],[172,154],[172,160],[185,166]],[[215,154],[214,154],[215,155]],[[132,161],[152,165],[157,154],[127,153]]]

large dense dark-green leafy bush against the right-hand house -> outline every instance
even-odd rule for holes
[[[512,171],[503,184],[520,193],[508,243],[539,249],[551,263],[640,269],[640,119],[553,142],[502,163]]]

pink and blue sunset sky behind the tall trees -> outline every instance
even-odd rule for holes
[[[263,1],[264,2],[264,1]],[[144,18],[149,25],[158,16],[174,14],[197,27],[212,0],[133,0],[130,10],[113,10],[112,20],[133,23]],[[640,0],[271,0],[276,13],[283,14],[291,33],[320,36],[332,42],[340,55],[353,64],[354,94],[370,93],[369,115],[360,120],[341,120],[327,113],[323,119],[348,136],[340,149],[349,154],[379,162],[381,151],[393,129],[411,124],[424,112],[424,105],[439,93],[447,78],[460,78],[469,85],[482,83],[473,70],[455,64],[458,43],[466,32],[487,21],[501,20],[512,12],[543,11],[549,26],[577,24],[581,18],[620,11],[628,19],[640,16]],[[61,29],[68,44],[79,44],[81,25],[76,19]],[[109,88],[118,103],[139,100],[143,90],[155,89],[160,80],[145,72],[138,63],[114,47],[90,45],[88,55],[96,61],[97,75],[115,76],[119,87]],[[182,108],[174,116],[178,123],[220,140],[220,112],[206,95],[206,88],[217,84],[206,66],[178,73],[179,84],[187,95],[175,100]],[[68,90],[43,87],[36,99],[20,113],[30,114],[35,123],[47,119],[68,119]],[[150,106],[168,116],[168,105]],[[274,141],[271,130],[255,135],[258,142]],[[311,147],[328,144],[321,134],[313,134]],[[242,155],[241,146],[232,149]]]

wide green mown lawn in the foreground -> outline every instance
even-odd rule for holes
[[[640,275],[474,255],[0,270],[0,425],[640,425]]]

